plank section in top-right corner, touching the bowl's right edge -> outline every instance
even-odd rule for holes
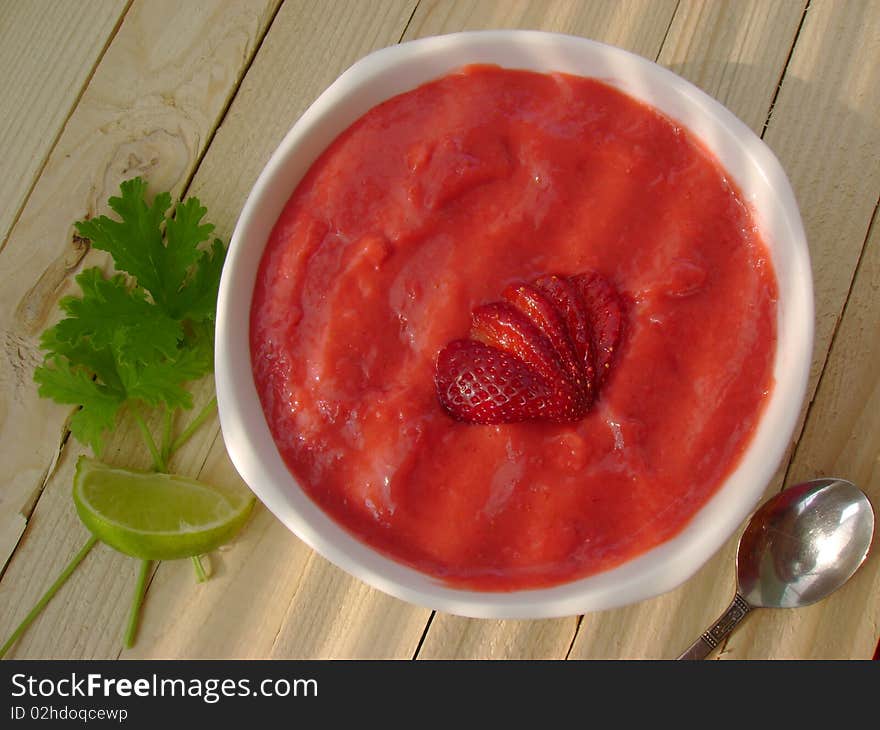
[[[878,58],[880,4],[812,3],[764,135],[794,187],[812,256],[811,394],[880,192]]]

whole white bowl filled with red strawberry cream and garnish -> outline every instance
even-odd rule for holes
[[[689,578],[782,459],[813,335],[794,196],[619,49],[429,38],[345,72],[257,181],[217,325],[224,439],[295,534],[475,617]]]

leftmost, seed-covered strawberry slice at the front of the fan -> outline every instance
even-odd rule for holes
[[[476,340],[454,340],[437,357],[435,385],[450,416],[469,423],[577,421],[570,387],[547,381],[516,356]]]

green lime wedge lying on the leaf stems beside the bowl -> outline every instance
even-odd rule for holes
[[[211,552],[241,529],[254,498],[175,474],[120,469],[81,456],[73,501],[102,542],[144,560]]]

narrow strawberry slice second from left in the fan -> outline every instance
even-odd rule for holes
[[[506,302],[477,307],[471,337],[519,358],[548,381],[568,380],[550,340],[528,317]]]

